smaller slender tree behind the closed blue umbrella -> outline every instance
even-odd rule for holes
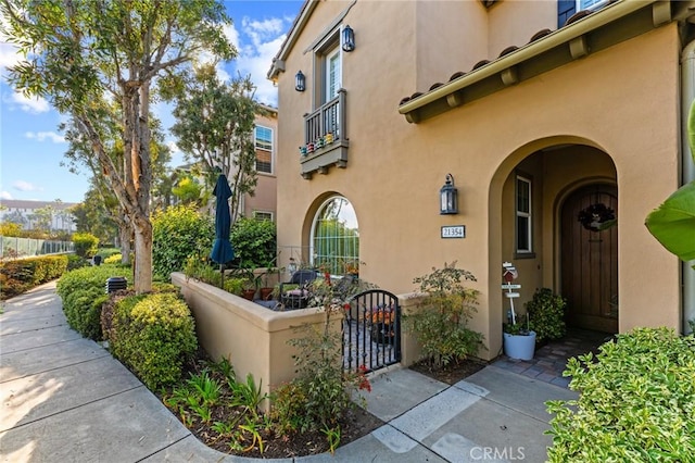
[[[194,78],[178,92],[167,95],[176,102],[172,133],[187,161],[203,167],[208,190],[219,172],[227,176],[232,224],[241,198],[253,195],[257,183],[253,128],[263,109],[253,98],[254,89],[249,77],[224,83],[214,64],[205,64],[197,67]]]

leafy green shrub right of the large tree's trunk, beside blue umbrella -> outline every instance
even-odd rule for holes
[[[152,265],[154,275],[169,281],[172,272],[180,272],[189,255],[207,255],[213,248],[215,228],[212,217],[193,207],[176,207],[152,217]]]

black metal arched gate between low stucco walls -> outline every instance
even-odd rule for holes
[[[389,291],[354,296],[343,322],[343,368],[383,368],[401,361],[401,306]]]

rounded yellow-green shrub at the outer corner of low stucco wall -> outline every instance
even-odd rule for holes
[[[129,296],[114,308],[109,341],[114,356],[150,390],[175,384],[198,349],[193,317],[173,292]]]

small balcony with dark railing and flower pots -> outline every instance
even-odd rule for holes
[[[304,115],[304,146],[300,147],[302,177],[328,174],[331,165],[348,166],[350,141],[345,130],[345,90],[311,114]]]

